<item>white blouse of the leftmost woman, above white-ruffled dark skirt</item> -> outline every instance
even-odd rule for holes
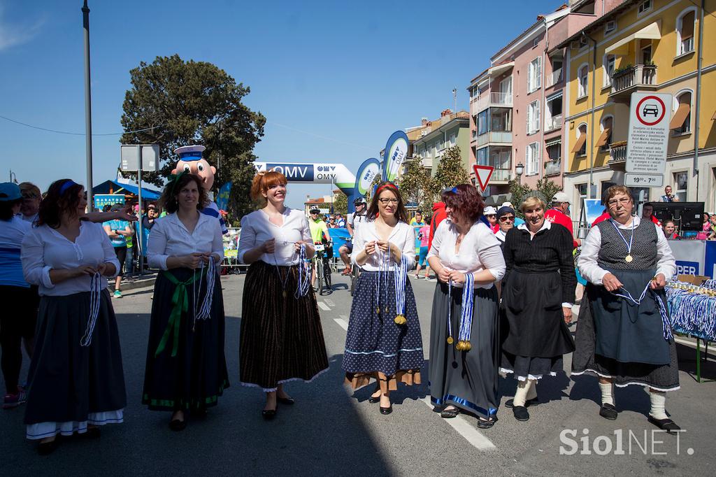
[[[115,249],[101,223],[81,221],[79,235],[74,242],[47,225],[33,227],[25,234],[21,249],[22,271],[29,284],[38,286],[41,296],[65,297],[82,291],[92,290],[92,277],[77,276],[53,284],[49,277],[52,269],[76,269],[78,266],[98,266],[110,263],[115,273],[120,269]],[[102,276],[100,289],[107,288],[107,279]]]

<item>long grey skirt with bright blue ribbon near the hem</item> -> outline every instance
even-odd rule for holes
[[[452,404],[482,418],[497,414],[498,364],[500,360],[498,294],[490,289],[473,291],[473,327],[470,351],[458,351],[463,289],[438,283],[432,298],[430,326],[430,400],[433,405]],[[448,344],[448,309],[453,344]]]

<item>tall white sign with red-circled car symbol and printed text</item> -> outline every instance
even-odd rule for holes
[[[671,120],[672,95],[657,93],[632,93],[629,109],[629,138],[627,140],[627,173],[632,180],[639,177],[663,175],[667,164],[669,143],[669,120]],[[642,176],[645,174],[646,176]],[[663,182],[662,177],[662,182]],[[660,184],[660,183],[659,183]],[[629,184],[626,184],[629,186]],[[657,187],[644,181],[641,187]]]

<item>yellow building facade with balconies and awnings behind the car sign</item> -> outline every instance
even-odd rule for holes
[[[700,3],[624,1],[556,45],[567,53],[563,167],[573,203],[624,183],[631,95],[658,92],[673,97],[664,186],[681,201],[703,201],[706,211],[716,211],[716,17],[710,13],[716,0],[705,1],[703,25]],[[632,192],[641,203],[664,193],[661,187]]]

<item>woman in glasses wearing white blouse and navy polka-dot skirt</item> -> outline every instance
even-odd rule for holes
[[[369,398],[392,413],[397,382],[420,384],[423,365],[420,321],[407,271],[415,265],[415,230],[395,184],[378,186],[367,222],[353,236],[358,278],[348,323],[343,370],[354,389],[377,381]]]

